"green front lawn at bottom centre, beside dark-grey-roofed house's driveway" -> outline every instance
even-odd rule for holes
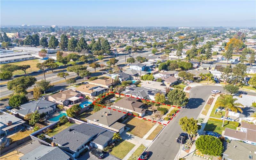
[[[112,151],[110,152],[110,154],[113,156],[116,156],[117,158],[123,159],[134,146],[135,146],[134,144],[128,141],[119,140],[116,143],[116,146],[112,148]]]

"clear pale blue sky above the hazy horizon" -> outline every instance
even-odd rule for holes
[[[256,27],[256,1],[0,1],[0,25]]]

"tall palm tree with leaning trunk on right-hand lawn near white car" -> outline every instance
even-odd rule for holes
[[[237,99],[233,98],[232,95],[220,95],[220,99],[217,100],[216,105],[218,107],[225,108],[225,111],[226,111],[223,122],[222,122],[222,127],[224,126],[224,122],[226,117],[228,116],[229,110],[236,113],[237,111],[240,111],[241,113],[243,113],[243,110],[240,107],[237,107],[237,106],[243,107],[243,105],[241,103],[235,103],[236,100]]]

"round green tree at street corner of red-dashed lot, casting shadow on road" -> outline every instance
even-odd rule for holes
[[[185,106],[188,104],[186,93],[179,89],[173,89],[167,94],[168,100],[175,106]]]

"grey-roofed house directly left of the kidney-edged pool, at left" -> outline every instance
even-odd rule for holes
[[[51,114],[56,109],[56,103],[48,100],[32,100],[28,103],[22,104],[20,110],[15,111],[19,116],[25,117],[29,113],[38,111],[40,114]]]

